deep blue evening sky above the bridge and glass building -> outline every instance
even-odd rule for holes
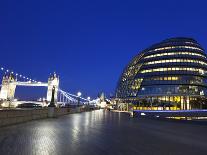
[[[114,93],[127,63],[166,38],[191,37],[207,48],[203,1],[0,4],[0,65],[44,82],[56,71],[60,87],[85,96]],[[17,88],[17,95],[34,91],[42,97],[46,89]]]

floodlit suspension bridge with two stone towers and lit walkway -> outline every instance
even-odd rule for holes
[[[47,87],[46,102],[49,103],[52,97],[52,89],[55,88],[54,100],[56,104],[83,104],[89,102],[88,99],[70,94],[63,91],[59,87],[59,76],[54,73],[51,74],[47,82],[37,82],[31,79],[28,81],[18,81],[17,77],[13,74],[5,74],[2,78],[0,100],[14,102],[15,90],[17,86],[25,87]],[[25,102],[26,103],[26,102]]]

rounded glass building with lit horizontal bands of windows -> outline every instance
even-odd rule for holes
[[[191,38],[171,38],[140,52],[124,69],[116,88],[120,103],[136,109],[206,108],[207,58]]]

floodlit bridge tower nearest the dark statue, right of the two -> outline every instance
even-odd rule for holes
[[[47,101],[50,102],[52,98],[52,89],[55,88],[54,101],[57,103],[57,94],[59,89],[59,77],[56,73],[50,75],[48,78]]]

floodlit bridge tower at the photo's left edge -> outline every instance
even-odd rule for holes
[[[2,78],[2,86],[0,92],[0,99],[12,101],[14,99],[16,89],[16,78],[14,74],[4,75]]]

